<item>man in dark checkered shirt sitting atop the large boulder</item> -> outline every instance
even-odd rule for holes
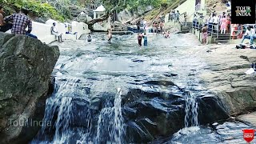
[[[19,14],[12,14],[4,18],[4,21],[13,22],[11,34],[24,34],[32,38],[37,38],[34,34],[30,34],[32,31],[32,22],[27,14],[29,14],[29,11],[26,9],[22,9]],[[27,31],[26,27],[28,27]]]

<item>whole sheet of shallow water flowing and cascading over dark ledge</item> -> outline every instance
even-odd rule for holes
[[[206,67],[191,56],[190,39],[173,34],[166,41],[154,35],[142,48],[134,46],[133,35],[114,36],[111,44],[103,37],[59,44],[56,87],[43,122],[51,126],[42,126],[32,143],[146,143],[161,136],[170,143],[206,143],[200,131],[215,134],[199,126],[206,111],[210,118],[218,111],[202,107],[202,98],[210,96],[196,73]],[[122,90],[115,90],[118,86]]]

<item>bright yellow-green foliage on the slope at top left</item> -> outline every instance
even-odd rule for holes
[[[62,14],[59,14],[58,11],[48,3],[42,3],[35,0],[0,0],[0,2],[5,8],[10,6],[14,7],[16,10],[26,8],[36,16],[53,18],[61,22],[64,21]]]

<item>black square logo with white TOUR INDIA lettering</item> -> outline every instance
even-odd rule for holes
[[[255,0],[232,0],[231,22],[234,24],[254,24],[255,4]]]

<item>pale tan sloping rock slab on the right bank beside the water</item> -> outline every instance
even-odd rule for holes
[[[209,64],[209,71],[201,75],[202,81],[222,99],[228,114],[255,110],[256,77],[245,72],[256,62],[256,50],[238,50],[235,45],[209,46],[202,48],[200,55]]]

